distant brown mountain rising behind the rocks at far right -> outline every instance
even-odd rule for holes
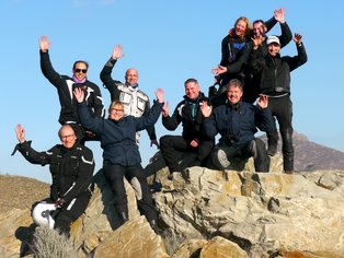
[[[266,137],[262,137],[266,142]],[[294,132],[295,169],[310,171],[344,171],[344,152],[311,142],[305,134]],[[282,140],[278,140],[278,150],[282,151]]]

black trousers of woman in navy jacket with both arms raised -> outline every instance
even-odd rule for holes
[[[128,214],[128,200],[123,178],[125,177],[134,187],[138,210],[147,221],[157,220],[157,211],[153,206],[150,188],[141,165],[122,166],[104,164],[104,175],[111,184],[114,194],[114,204],[118,213]]]

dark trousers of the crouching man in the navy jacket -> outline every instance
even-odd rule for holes
[[[225,142],[218,143],[211,152],[211,165],[222,171],[229,167],[232,159],[249,159],[251,156],[253,156],[256,172],[268,172],[270,157],[264,142],[259,138],[248,141],[240,146],[228,145]]]

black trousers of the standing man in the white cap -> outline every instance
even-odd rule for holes
[[[286,95],[283,97],[268,97],[268,107],[279,125],[284,169],[294,171],[294,130],[291,126],[293,103],[290,96]],[[278,138],[276,139],[276,141],[277,140]]]

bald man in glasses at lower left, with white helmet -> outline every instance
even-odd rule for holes
[[[16,126],[15,134],[19,144],[12,155],[19,150],[30,163],[50,165],[50,197],[34,207],[34,221],[69,236],[70,224],[84,212],[91,197],[94,172],[92,151],[77,141],[70,125],[62,126],[58,131],[62,144],[56,144],[45,152],[37,152],[31,146],[31,141],[25,140],[25,130],[21,125]],[[53,221],[49,221],[47,214],[44,215],[46,208],[47,214],[49,210],[55,210],[51,213]],[[37,213],[35,210],[42,212]]]

